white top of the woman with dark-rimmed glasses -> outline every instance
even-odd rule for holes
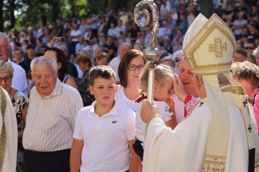
[[[136,111],[136,106],[135,106],[135,100],[130,100],[124,93],[123,86],[119,85],[117,93],[115,95],[115,99],[119,102],[119,104],[129,107],[132,109],[134,112]]]

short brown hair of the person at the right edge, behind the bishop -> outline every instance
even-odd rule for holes
[[[242,62],[233,69],[233,78],[238,77],[239,80],[247,80],[253,85],[253,89],[259,86],[259,68],[254,63]]]

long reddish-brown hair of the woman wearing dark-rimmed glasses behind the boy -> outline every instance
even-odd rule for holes
[[[122,60],[119,64],[119,67],[118,67],[118,75],[119,75],[119,78],[120,78],[120,84],[121,86],[123,87],[127,87],[128,85],[128,77],[127,77],[127,70],[128,70],[128,65],[129,65],[129,62],[137,57],[137,56],[140,56],[143,58],[144,60],[144,64],[146,63],[146,57],[144,55],[144,53],[142,53],[141,51],[139,50],[134,50],[134,49],[131,49],[129,51],[127,51],[123,57],[122,57]]]

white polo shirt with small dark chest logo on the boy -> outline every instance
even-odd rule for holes
[[[77,115],[73,137],[84,140],[80,172],[126,172],[129,140],[135,137],[135,113],[115,101],[112,110],[99,117],[96,101]]]

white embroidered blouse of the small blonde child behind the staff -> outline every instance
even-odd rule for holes
[[[163,121],[169,121],[172,119],[173,112],[169,110],[169,106],[164,101],[154,101],[159,109],[159,115]],[[145,138],[145,123],[140,118],[140,109],[143,101],[136,103],[136,137],[139,141],[144,142]]]

